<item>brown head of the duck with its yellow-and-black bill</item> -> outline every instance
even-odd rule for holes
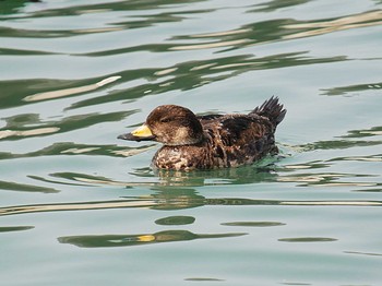
[[[203,128],[190,109],[177,105],[163,105],[148,115],[143,126],[131,133],[119,135],[118,139],[154,140],[170,146],[190,145],[203,140]]]

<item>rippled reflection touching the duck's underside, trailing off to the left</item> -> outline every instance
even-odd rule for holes
[[[225,168],[216,170],[195,171],[172,171],[153,170],[150,167],[133,169],[130,175],[135,179],[129,181],[116,180],[104,176],[94,176],[81,172],[55,172],[53,178],[41,178],[34,176],[34,179],[53,182],[59,184],[75,183],[80,186],[120,186],[133,187],[204,187],[220,184],[247,184],[264,181],[276,181],[277,172],[274,165],[277,158],[270,157],[261,160],[260,164],[243,166],[240,168]],[[136,180],[136,181],[134,181]]]

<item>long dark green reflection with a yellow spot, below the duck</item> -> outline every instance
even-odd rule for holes
[[[81,248],[132,247],[160,242],[186,241],[201,238],[225,238],[247,235],[246,233],[201,235],[188,230],[165,230],[155,234],[140,235],[99,235],[59,237],[61,243]]]

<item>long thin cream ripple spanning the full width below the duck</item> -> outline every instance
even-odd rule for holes
[[[160,211],[174,211],[207,205],[227,206],[382,206],[382,201],[277,201],[277,200],[251,200],[240,198],[207,199],[190,190],[171,190],[153,195],[131,196],[124,200],[81,202],[81,203],[58,203],[58,204],[34,204],[14,205],[0,207],[0,216],[16,215],[41,212],[63,211],[91,211],[111,208],[152,208]],[[180,194],[182,193],[182,194]],[[186,194],[187,193],[187,194]],[[230,224],[230,223],[228,223]],[[240,223],[239,223],[240,224]],[[246,223],[243,223],[246,224]],[[252,224],[252,223],[249,223]]]

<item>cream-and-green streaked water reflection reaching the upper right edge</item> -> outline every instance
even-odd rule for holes
[[[277,3],[280,2],[282,1],[277,1]],[[177,45],[169,47],[169,49],[194,50],[211,49],[217,47],[242,48],[244,46],[254,44],[266,44],[276,40],[297,39],[338,32],[342,29],[375,26],[380,25],[381,23],[381,11],[368,11],[365,13],[344,17],[320,20],[319,22],[277,19],[266,22],[258,22],[250,25],[243,25],[240,26],[238,29],[228,32],[178,36],[175,39],[201,39],[204,40],[204,43],[193,45]],[[206,38],[211,38],[213,39],[213,41],[205,43]]]

